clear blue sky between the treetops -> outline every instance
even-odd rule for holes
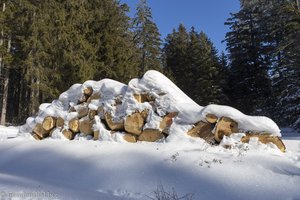
[[[130,7],[130,16],[135,13],[139,0],[121,0]],[[148,0],[152,16],[162,38],[183,23],[189,30],[192,26],[197,31],[204,31],[220,51],[226,44],[228,27],[224,25],[230,12],[239,10],[239,0]]]

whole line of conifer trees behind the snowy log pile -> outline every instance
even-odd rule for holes
[[[297,0],[241,0],[227,52],[184,24],[162,39],[146,0],[1,0],[1,124],[21,124],[74,83],[155,69],[200,105],[231,105],[300,127]]]

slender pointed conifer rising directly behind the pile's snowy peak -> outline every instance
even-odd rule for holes
[[[146,0],[140,0],[133,19],[134,42],[139,49],[139,75],[149,69],[162,70],[161,39],[153,22],[150,7]]]

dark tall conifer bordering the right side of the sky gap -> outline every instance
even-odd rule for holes
[[[230,58],[229,96],[233,106],[245,113],[257,113],[271,94],[269,58],[261,56],[262,35],[257,7],[242,6],[225,23]]]

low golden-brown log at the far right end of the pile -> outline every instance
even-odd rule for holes
[[[267,144],[267,143],[273,143],[277,146],[277,148],[282,151],[285,152],[286,151],[286,147],[284,145],[284,143],[282,142],[282,140],[278,137],[278,136],[273,136],[270,134],[259,134],[259,133],[246,133],[245,136],[243,136],[241,138],[241,141],[243,143],[249,143],[250,138],[253,137],[257,137],[258,141],[260,141],[263,144]]]

